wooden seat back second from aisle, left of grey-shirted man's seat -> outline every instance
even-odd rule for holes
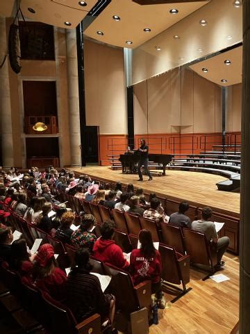
[[[176,252],[184,254],[185,248],[181,228],[166,223],[161,223],[160,226],[163,244],[172,246]]]

